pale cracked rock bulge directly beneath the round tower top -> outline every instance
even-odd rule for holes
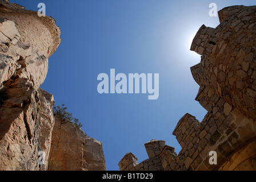
[[[7,20],[0,23],[0,31],[9,42],[0,40],[0,89],[4,81],[11,76],[28,78],[38,89],[45,81],[48,69],[48,59],[33,46],[19,42],[20,36],[15,23]],[[15,38],[15,42],[11,42]]]

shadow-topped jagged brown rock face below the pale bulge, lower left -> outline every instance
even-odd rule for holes
[[[0,106],[0,170],[39,170],[37,90],[25,78],[7,81]]]

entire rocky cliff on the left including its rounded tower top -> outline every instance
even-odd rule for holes
[[[60,35],[53,18],[0,0],[0,170],[106,169],[102,143],[62,125],[39,88]]]

